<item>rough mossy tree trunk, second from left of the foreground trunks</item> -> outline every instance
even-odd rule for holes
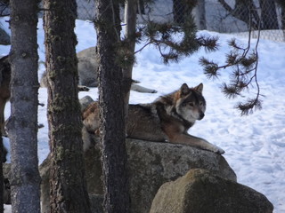
[[[44,7],[51,212],[89,213],[77,97],[77,4],[75,0],[45,0]]]

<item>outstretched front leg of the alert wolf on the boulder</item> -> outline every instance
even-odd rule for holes
[[[222,148],[209,143],[203,138],[198,138],[189,134],[177,134],[171,137],[169,139],[169,142],[199,147],[201,149],[206,149],[208,151],[214,152],[216,154],[224,154],[224,150]]]

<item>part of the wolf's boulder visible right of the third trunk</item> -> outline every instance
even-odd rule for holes
[[[220,177],[237,177],[224,157],[191,146],[155,143],[136,139],[126,141],[131,212],[146,213],[160,185],[182,177],[188,170],[210,170]]]

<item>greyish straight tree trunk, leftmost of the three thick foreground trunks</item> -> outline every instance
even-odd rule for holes
[[[37,159],[37,1],[11,0],[12,212],[40,212]]]

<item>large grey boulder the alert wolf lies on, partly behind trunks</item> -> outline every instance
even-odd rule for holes
[[[158,192],[160,185],[182,177],[188,170],[201,168],[210,170],[217,176],[236,181],[236,175],[219,154],[214,154],[195,147],[126,139],[128,156],[128,174],[131,194],[131,212],[147,213],[151,209],[151,201]],[[48,160],[47,160],[48,161]],[[99,142],[85,152],[85,168],[87,191],[102,194],[102,165]],[[49,205],[48,181],[45,175],[48,164],[41,165],[43,178],[42,205]],[[44,172],[43,172],[44,171]],[[43,208],[43,212],[45,208]],[[97,212],[97,211],[96,211]]]

